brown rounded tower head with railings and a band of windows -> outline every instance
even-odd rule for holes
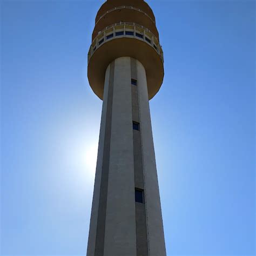
[[[96,15],[87,76],[100,99],[106,68],[119,57],[132,57],[143,64],[149,99],[153,98],[163,83],[164,58],[156,19],[143,0],[107,0]]]

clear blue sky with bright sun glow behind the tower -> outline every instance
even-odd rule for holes
[[[102,102],[86,78],[104,1],[1,1],[1,253],[85,255]],[[255,2],[148,1],[167,255],[255,255]]]

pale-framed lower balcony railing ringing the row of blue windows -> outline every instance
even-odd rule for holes
[[[120,28],[121,26],[121,28]],[[126,26],[130,26],[130,28],[126,28]],[[116,30],[116,27],[119,27]],[[131,28],[132,27],[132,28]],[[143,31],[138,30],[143,29]],[[112,29],[112,30],[111,30]],[[122,30],[123,29],[123,30]],[[106,30],[110,30],[106,33]],[[147,28],[145,28],[142,25],[136,24],[136,23],[130,23],[130,22],[119,22],[112,24],[110,26],[107,26],[104,30],[100,31],[97,35],[97,37],[92,41],[92,44],[90,46],[90,50],[88,52],[88,62],[90,58],[92,57],[93,53],[102,46],[105,42],[109,42],[112,39],[115,38],[122,38],[122,37],[131,37],[131,35],[127,35],[126,31],[133,32],[133,38],[138,39],[140,41],[144,41],[145,43],[151,45],[154,50],[158,53],[161,60],[164,62],[164,54],[163,50],[161,49],[161,45],[158,42],[158,39],[154,34]],[[116,35],[118,32],[123,32],[123,34]],[[137,34],[140,34],[140,37]],[[109,37],[111,36],[111,37]]]

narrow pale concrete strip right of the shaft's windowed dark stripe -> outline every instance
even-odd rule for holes
[[[138,60],[137,74],[149,255],[166,256],[146,71]]]

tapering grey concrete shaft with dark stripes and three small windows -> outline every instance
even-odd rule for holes
[[[165,256],[146,71],[131,57],[105,71],[87,256]]]

